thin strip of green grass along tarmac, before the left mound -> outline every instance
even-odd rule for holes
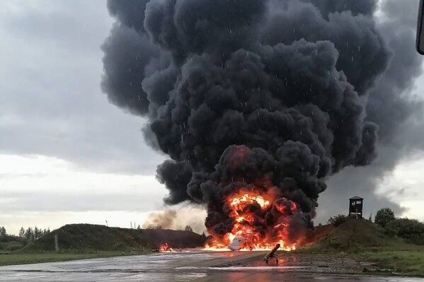
[[[37,264],[41,262],[66,262],[76,259],[96,259],[105,257],[122,257],[137,254],[149,254],[148,251],[132,252],[43,252],[38,254],[0,254],[0,266],[13,264]]]

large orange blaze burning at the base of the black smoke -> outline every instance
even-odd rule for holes
[[[224,206],[229,208],[233,228],[223,236],[208,230],[212,240],[205,249],[228,250],[228,246],[236,238],[241,239],[241,250],[268,250],[276,244],[280,244],[281,249],[286,251],[296,249],[297,242],[289,240],[288,227],[297,212],[297,206],[292,201],[278,197],[275,189],[267,192],[241,189],[228,196]],[[273,216],[277,218],[274,222],[268,220],[271,214],[277,214]]]

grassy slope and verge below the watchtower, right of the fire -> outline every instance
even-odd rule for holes
[[[390,237],[385,230],[369,221],[348,221],[338,228],[328,230],[322,240],[311,241],[314,243],[297,249],[294,253],[328,254],[374,262],[376,266],[367,269],[371,274],[424,277],[424,246]]]

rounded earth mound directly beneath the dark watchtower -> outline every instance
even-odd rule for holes
[[[323,225],[306,237],[306,246],[323,250],[369,249],[393,245],[384,228],[365,219],[349,219],[338,227]]]

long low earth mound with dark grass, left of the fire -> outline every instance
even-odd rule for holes
[[[172,247],[173,243],[176,247],[199,247],[205,242],[200,240],[204,236],[188,231],[134,230],[110,228],[105,225],[71,224],[53,230],[22,251],[53,251],[55,235],[58,237],[60,249],[81,250],[81,252],[156,249],[163,242],[170,243]]]

